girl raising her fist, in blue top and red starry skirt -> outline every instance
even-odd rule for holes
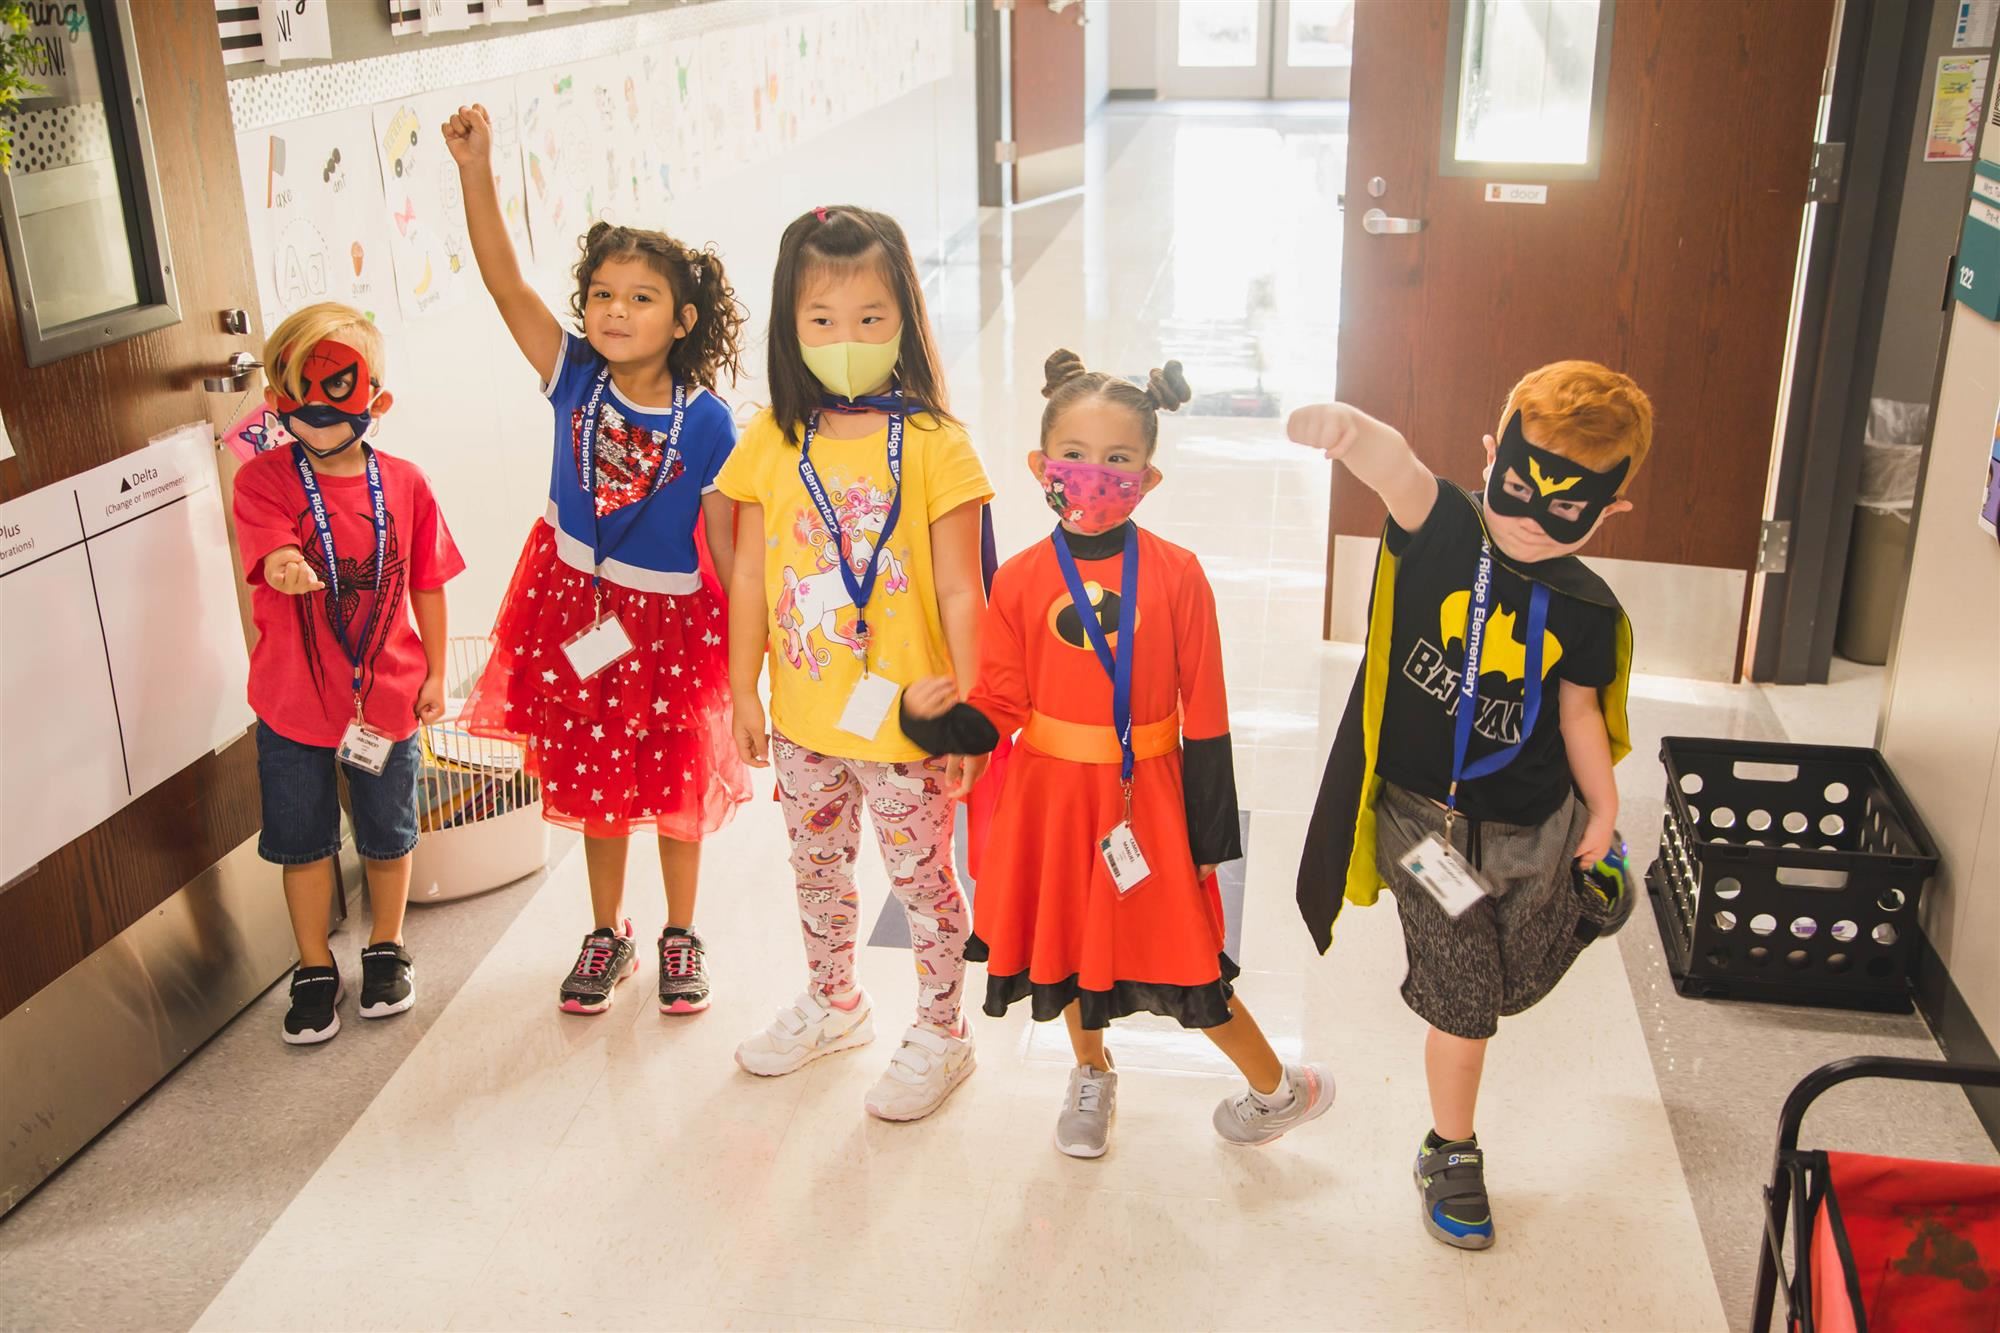
[[[466,705],[476,735],[524,741],[542,813],[580,829],[594,929],[562,983],[564,1013],[604,1013],[638,971],[624,919],[626,843],[660,839],[660,1013],[708,1009],[694,935],[702,839],[750,799],[728,703],[734,504],[716,474],[736,424],[714,394],[736,376],[742,308],[712,250],[600,222],[576,264],[564,332],[522,278],[492,176],[492,126],[444,126],[480,276],[556,410],[548,512],[536,520]],[[698,548],[706,528],[706,560]]]

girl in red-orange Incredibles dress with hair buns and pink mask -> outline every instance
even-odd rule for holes
[[[940,677],[902,701],[904,735],[934,755],[1020,733],[966,957],[986,963],[988,1015],[1028,999],[1036,1021],[1068,1023],[1060,1151],[1104,1155],[1118,1095],[1104,1029],[1140,1011],[1208,1033],[1250,1083],[1216,1107],[1216,1133],[1270,1143],[1322,1115],[1334,1083],[1286,1067],[1234,995],[1214,871],[1242,847],[1216,600],[1192,552],[1130,522],[1160,482],[1158,412],[1188,384],[1180,362],[1140,388],[1062,350],[1042,392],[1028,466],[1062,522],[994,576],[972,699]]]

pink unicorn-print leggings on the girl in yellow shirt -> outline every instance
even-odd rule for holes
[[[954,1027],[966,989],[968,921],[952,871],[954,801],[944,793],[944,761],[836,759],[780,735],[772,735],[770,753],[792,837],[812,989],[824,997],[854,985],[862,917],[854,863],[866,805],[890,887],[910,919],[918,1021]]]

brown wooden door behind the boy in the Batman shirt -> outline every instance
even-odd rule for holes
[[[1548,8],[1356,6],[1340,396],[1478,488],[1480,436],[1522,372],[1572,356],[1626,370],[1652,394],[1658,452],[1592,552],[1748,572],[1834,0],[1604,0],[1596,172],[1458,162],[1448,46],[1468,20]],[[1536,188],[1546,202],[1502,202]],[[1374,536],[1382,516],[1336,474],[1332,534]]]

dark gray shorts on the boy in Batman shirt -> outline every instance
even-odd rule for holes
[[[1500,1015],[1520,1013],[1556,989],[1596,935],[1592,927],[1602,925],[1602,909],[1576,889],[1572,871],[1586,823],[1590,811],[1574,795],[1536,827],[1460,819],[1452,845],[1480,871],[1488,897],[1454,919],[1396,865],[1444,831],[1444,811],[1394,783],[1382,785],[1376,869],[1396,893],[1410,959],[1402,999],[1420,1019],[1452,1037],[1492,1037]]]

